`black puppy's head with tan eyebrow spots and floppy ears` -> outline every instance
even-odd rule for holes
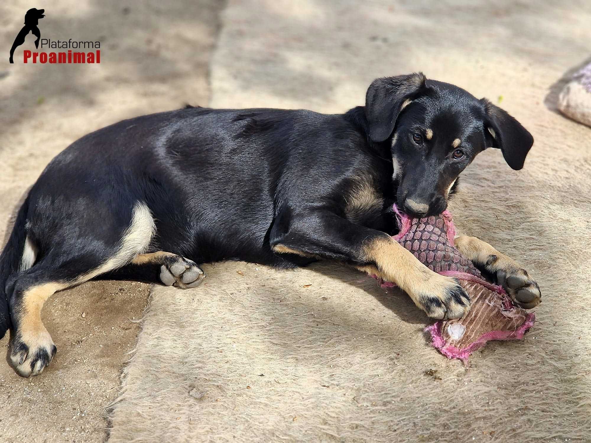
[[[398,205],[413,216],[444,211],[460,172],[483,149],[501,149],[519,170],[534,142],[501,108],[423,73],[374,80],[365,113],[369,138],[391,145]]]

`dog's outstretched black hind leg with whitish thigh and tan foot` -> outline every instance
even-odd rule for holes
[[[124,217],[116,222],[115,217],[105,216],[100,224],[85,224],[93,217],[62,219],[51,237],[35,230],[35,223],[48,229],[43,218],[34,214],[33,226],[27,228],[30,246],[25,246],[21,271],[9,276],[6,285],[13,325],[10,358],[22,376],[43,372],[56,353],[41,321],[46,300],[56,291],[131,263],[148,249],[155,232],[150,210],[138,202],[129,213],[131,220],[127,218],[126,226],[121,225]]]

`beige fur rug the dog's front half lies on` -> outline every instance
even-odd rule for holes
[[[466,370],[407,297],[359,272],[205,265],[200,288],[152,291],[111,441],[589,441],[591,130],[544,105],[588,56],[589,22],[583,2],[230,0],[212,106],[343,112],[374,77],[423,70],[520,120],[536,140],[524,170],[480,154],[450,209],[543,303],[523,341]]]

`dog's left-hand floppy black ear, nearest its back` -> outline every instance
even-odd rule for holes
[[[411,100],[425,87],[422,72],[375,79],[365,95],[365,116],[369,123],[369,138],[374,142],[387,139],[396,125],[405,100]]]

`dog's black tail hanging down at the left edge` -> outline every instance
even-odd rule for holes
[[[27,232],[27,211],[29,209],[29,198],[25,199],[21,209],[18,210],[17,220],[14,222],[12,233],[8,243],[0,254],[0,339],[11,327],[10,311],[8,309],[8,297],[6,294],[6,282],[8,276],[19,270],[22,261],[22,253],[25,249]]]

